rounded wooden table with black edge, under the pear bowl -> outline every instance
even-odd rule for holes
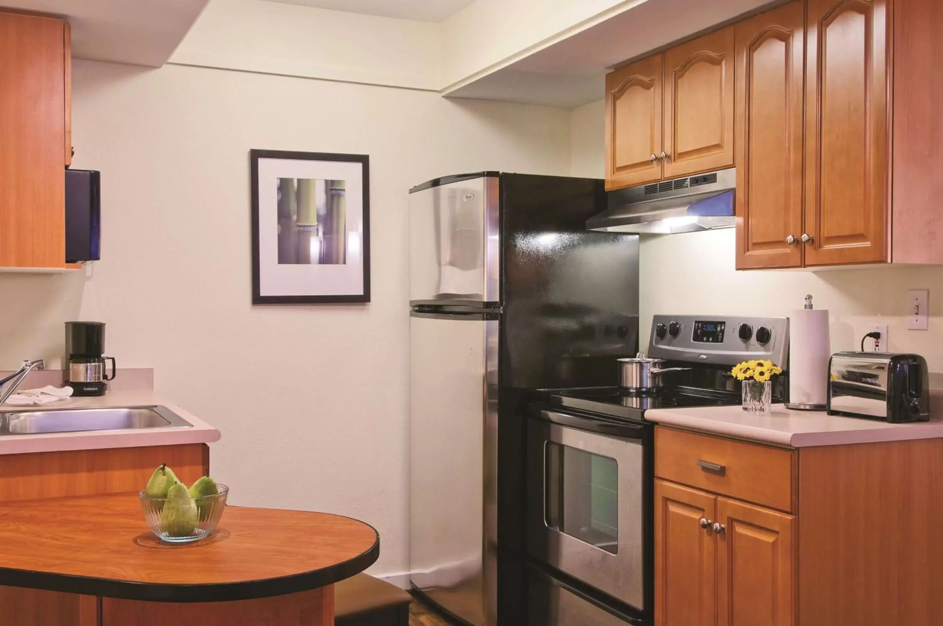
[[[2,503],[0,546],[0,585],[75,602],[76,626],[333,624],[332,585],[380,553],[362,521],[240,506],[207,539],[165,544],[136,493]]]

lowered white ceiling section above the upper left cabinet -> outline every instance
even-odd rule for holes
[[[72,25],[72,56],[160,67],[208,0],[0,0]]]

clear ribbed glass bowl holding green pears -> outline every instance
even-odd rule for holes
[[[229,487],[217,484],[218,493],[198,498],[152,498],[138,494],[144,519],[161,541],[190,543],[211,535],[223,517]]]

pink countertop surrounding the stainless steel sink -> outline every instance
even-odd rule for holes
[[[67,408],[162,405],[192,424],[192,427],[149,428],[142,430],[81,431],[42,435],[0,436],[0,454],[45,453],[103,448],[140,448],[181,443],[211,443],[220,431],[176,404],[169,403],[150,389],[116,390],[97,398],[69,398],[41,406],[2,404],[0,412],[56,411]]]

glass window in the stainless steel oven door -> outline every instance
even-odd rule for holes
[[[619,463],[551,441],[544,453],[547,526],[619,553]]]

